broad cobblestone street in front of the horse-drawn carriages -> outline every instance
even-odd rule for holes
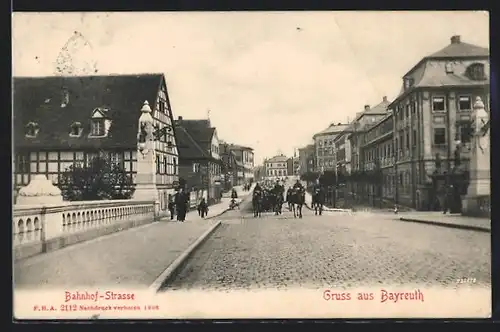
[[[394,214],[227,213],[168,289],[491,284],[490,235],[405,223]]]

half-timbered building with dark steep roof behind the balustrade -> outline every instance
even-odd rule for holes
[[[36,174],[57,185],[69,166],[88,164],[100,154],[135,182],[138,120],[148,101],[158,133],[156,187],[160,209],[167,210],[179,155],[163,74],[15,77],[13,84],[16,191]]]

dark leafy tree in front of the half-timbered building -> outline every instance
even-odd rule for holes
[[[59,188],[69,201],[129,199],[135,190],[131,176],[105,156],[71,165],[61,174]]]

